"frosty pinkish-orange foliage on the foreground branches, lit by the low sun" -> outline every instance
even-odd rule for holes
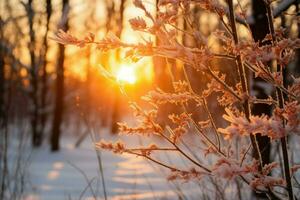
[[[266,2],[266,4],[270,7],[271,3]],[[299,80],[293,77],[293,84],[285,87],[282,70],[273,70],[268,65],[272,61],[277,63],[281,69],[286,68],[293,59],[295,50],[300,47],[300,40],[285,38],[284,30],[278,29],[266,36],[265,42],[267,41],[268,45],[260,46],[252,39],[242,39],[237,42],[232,37],[235,34],[232,31],[233,24],[224,21],[224,19],[232,17],[228,11],[232,8],[228,8],[218,1],[161,0],[156,16],[147,11],[141,0],[134,0],[134,5],[144,11],[144,17],[137,16],[129,19],[132,29],[149,33],[159,38],[161,43],[156,44],[150,39],[144,39],[143,43],[130,44],[121,41],[114,35],[108,35],[102,40],[96,41],[93,34],[89,34],[81,40],[62,31],[59,31],[53,39],[62,44],[79,47],[95,45],[101,51],[122,48],[127,52],[126,57],[131,58],[134,62],[145,56],[176,59],[185,64],[184,73],[186,73],[186,67],[191,67],[211,79],[202,93],[196,93],[193,90],[197,86],[191,85],[187,76],[183,80],[174,80],[173,92],[163,91],[160,88],[149,91],[142,99],[152,106],[150,110],[141,108],[137,103],[130,103],[138,123],[136,126],[119,123],[120,132],[142,136],[155,135],[165,141],[165,146],[152,144],[129,148],[122,142],[106,141],[100,141],[96,143],[96,146],[114,153],[129,153],[145,157],[169,169],[169,180],[200,181],[207,176],[227,180],[240,179],[256,192],[265,193],[270,198],[286,198],[286,191],[289,190],[287,181],[291,180],[287,180],[283,174],[271,173],[275,170],[278,171],[282,166],[278,162],[263,165],[261,160],[253,158],[251,152],[257,150],[256,134],[268,136],[272,142],[276,143],[288,135],[299,133]],[[222,54],[210,48],[207,41],[203,39],[204,36],[195,27],[192,27],[192,30],[182,30],[179,25],[176,25],[175,22],[179,19],[190,20],[190,10],[193,6],[199,6],[207,12],[214,13],[227,27],[226,31],[216,30],[213,33],[222,42]],[[245,13],[239,16],[245,16]],[[146,23],[144,18],[147,18],[149,23]],[[272,18],[269,18],[269,21],[273,23]],[[196,41],[195,43],[200,45],[194,48],[184,45],[178,39],[180,34],[192,37]],[[238,82],[229,83],[226,79],[227,74],[214,68],[212,61],[216,58],[231,61],[241,59],[242,69],[251,71],[256,77],[260,77],[272,85],[277,90],[277,97],[257,99],[255,96],[251,96],[247,89],[249,85],[246,85],[246,88],[243,85],[248,84],[250,78],[241,72]],[[111,76],[107,71],[104,73],[108,77]],[[246,78],[246,82],[243,82],[243,78]],[[216,101],[225,110],[223,119],[224,124],[227,124],[226,127],[217,127],[212,117],[208,117],[204,121],[195,121],[188,111],[188,105],[196,103],[197,108],[204,108],[207,116],[211,116],[207,99],[216,94]],[[283,94],[286,96],[284,104],[280,103]],[[273,105],[272,116],[251,115],[245,110],[247,106],[257,102]],[[157,113],[159,108],[166,104],[175,105],[180,112],[169,113],[169,124],[162,125],[157,120]],[[197,146],[193,149],[193,153],[184,146],[186,135],[197,138],[194,140]],[[251,140],[251,146],[247,148],[251,137],[254,138],[254,142]],[[239,144],[239,148],[234,148],[236,143]],[[153,155],[156,151],[164,151],[171,155],[179,154],[189,162],[191,167],[186,169],[182,166],[173,166],[165,160],[159,160]],[[214,162],[206,162],[198,159],[195,155],[211,156],[214,158]],[[296,171],[298,168],[292,166],[291,169]],[[294,181],[292,184],[295,184]]]

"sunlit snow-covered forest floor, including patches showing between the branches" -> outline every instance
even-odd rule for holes
[[[108,141],[117,141],[121,138],[131,147],[152,142],[161,143],[158,138],[141,139],[133,136],[111,135],[105,130],[101,132],[99,134],[101,138]],[[24,200],[105,199],[93,142],[88,136],[78,148],[75,148],[77,139],[78,136],[72,134],[63,135],[62,148],[57,153],[51,153],[47,145],[34,150],[30,145],[23,148],[22,153],[25,155],[23,159],[25,157],[25,160],[28,160],[25,167]],[[291,140],[291,143],[297,143],[296,141],[298,140]],[[16,147],[16,144],[12,146]],[[166,180],[169,171],[164,171],[143,158],[128,154],[117,155],[108,151],[98,151],[98,153],[103,165],[107,199],[211,199],[206,195],[215,199],[213,196],[216,195],[216,188],[210,179],[198,183],[169,182]],[[16,148],[10,149],[10,154],[10,158],[16,157]],[[176,154],[168,157],[160,153],[156,156],[159,160],[187,167],[187,163]],[[299,163],[299,160],[295,159],[297,157],[295,154],[292,157],[295,163]],[[205,159],[201,162],[212,161],[209,157],[199,159]],[[218,184],[223,185],[219,189],[224,192],[226,196],[224,199],[236,198],[235,181],[218,182]],[[244,199],[251,199],[249,188],[244,189],[242,189]]]

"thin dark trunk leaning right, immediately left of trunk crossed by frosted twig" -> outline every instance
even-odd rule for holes
[[[40,141],[39,145],[42,144],[43,140],[43,135],[44,135],[44,130],[45,130],[45,124],[47,120],[47,113],[46,113],[46,99],[47,99],[47,80],[48,80],[48,75],[47,75],[47,52],[48,52],[48,32],[49,32],[49,23],[50,23],[50,18],[52,15],[52,5],[51,5],[51,0],[46,0],[46,12],[47,12],[47,17],[46,17],[46,32],[44,36],[44,41],[43,41],[43,53],[42,53],[42,88],[41,88],[41,113],[40,113],[40,123],[41,123],[41,128],[40,128]]]

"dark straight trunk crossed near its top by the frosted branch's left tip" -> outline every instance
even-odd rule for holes
[[[62,20],[61,27],[63,31],[68,30],[68,10],[69,0],[62,0]],[[53,126],[51,134],[51,150],[58,151],[59,140],[61,135],[61,123],[63,119],[64,109],[64,61],[65,61],[65,47],[59,45],[58,58],[56,65],[56,96],[55,96],[55,108],[53,117]]]

